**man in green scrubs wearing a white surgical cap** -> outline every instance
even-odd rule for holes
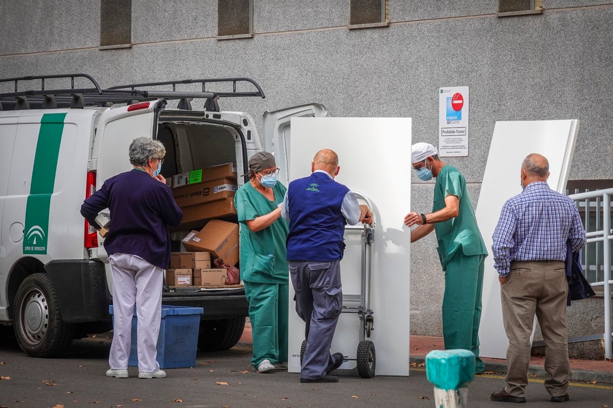
[[[476,357],[476,373],[484,364],[479,358],[479,321],[481,291],[487,249],[474,217],[473,204],[460,172],[438,157],[432,144],[416,143],[411,147],[411,163],[419,179],[436,177],[432,213],[411,212],[407,226],[411,242],[433,230],[438,241],[438,256],[445,272],[443,296],[443,338],[445,349],[466,349]]]

